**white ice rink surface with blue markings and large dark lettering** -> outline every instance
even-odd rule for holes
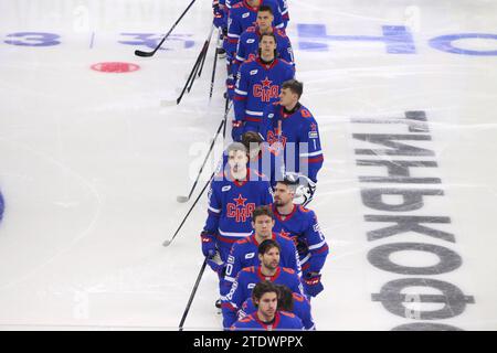
[[[161,101],[187,79],[211,1],[166,50],[134,51],[189,2],[0,1],[0,330],[178,329],[205,195],[161,244],[223,118],[214,39],[192,92]],[[330,246],[317,329],[497,330],[497,2],[288,3],[325,153],[309,205]],[[109,62],[139,69],[92,69]],[[187,330],[221,329],[216,286],[205,271]]]

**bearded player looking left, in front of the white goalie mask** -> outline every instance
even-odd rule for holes
[[[316,297],[324,289],[320,272],[329,248],[316,214],[293,203],[296,188],[298,181],[293,174],[276,184],[272,205],[274,232],[294,239],[300,259],[304,290],[308,296]]]

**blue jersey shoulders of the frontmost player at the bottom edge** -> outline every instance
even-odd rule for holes
[[[304,330],[302,320],[294,313],[276,311],[274,321],[271,324],[262,322],[256,313],[240,319],[230,328],[232,331],[285,331]]]

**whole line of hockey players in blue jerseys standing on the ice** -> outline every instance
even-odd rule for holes
[[[315,330],[328,245],[311,201],[322,167],[300,103],[286,0],[214,0],[224,34],[232,139],[210,184],[202,253],[219,276],[223,328]]]

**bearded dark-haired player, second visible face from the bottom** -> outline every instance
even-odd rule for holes
[[[236,313],[243,302],[248,299],[252,289],[262,280],[285,285],[292,291],[304,295],[300,278],[290,268],[279,266],[282,247],[272,239],[264,240],[258,246],[258,260],[261,266],[242,269],[233,282],[230,292],[222,298],[223,325],[230,328],[236,321]]]

